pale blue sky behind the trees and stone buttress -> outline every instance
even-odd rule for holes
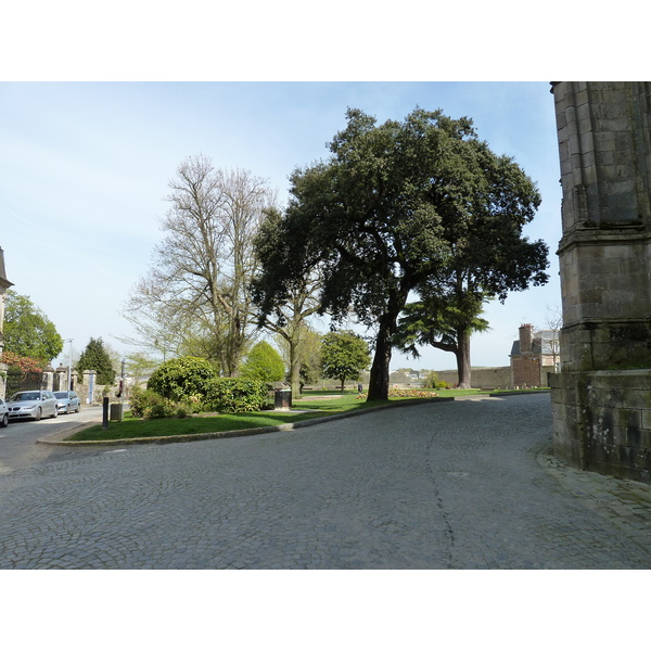
[[[526,234],[550,247],[550,282],[488,305],[492,330],[473,366],[502,366],[522,322],[544,327],[560,305],[561,237],[553,98],[541,82],[3,82],[0,84],[0,246],[21,294],[76,352],[131,334],[120,316],[162,239],[167,182],[186,156],[268,179],[286,200],[296,166],[326,157],[348,106],[400,119],[417,105],[473,118],[513,156],[542,204]],[[64,358],[67,355],[67,346]],[[65,360],[65,359],[64,359]],[[450,354],[394,354],[392,368],[455,368]]]

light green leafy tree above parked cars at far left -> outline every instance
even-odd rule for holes
[[[47,366],[63,350],[63,339],[56,332],[54,323],[28,296],[21,296],[13,290],[5,292],[2,333],[4,350],[37,359],[41,367]]]

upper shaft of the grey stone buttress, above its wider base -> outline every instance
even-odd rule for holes
[[[651,368],[651,84],[554,85],[564,371]]]

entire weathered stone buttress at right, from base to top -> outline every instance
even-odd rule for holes
[[[651,482],[651,82],[560,81],[554,454]]]

